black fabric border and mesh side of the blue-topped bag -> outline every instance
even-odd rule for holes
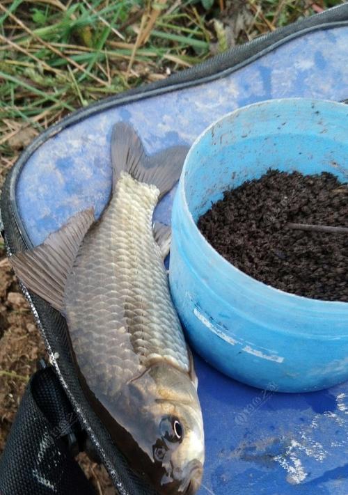
[[[230,74],[287,40],[311,30],[347,25],[347,22],[348,5],[345,4],[278,29],[246,45],[235,47],[164,81],[106,98],[72,113],[58,125],[48,129],[22,153],[3,187],[0,228],[8,253],[17,253],[31,247],[17,210],[16,184],[27,159],[49,137],[72,123],[109,107],[195,84],[209,84],[209,81]],[[155,495],[150,487],[129,470],[127,462],[112,443],[104,425],[90,409],[79,386],[70,356],[65,320],[45,301],[27,292],[25,288],[23,290],[29,299],[47,349],[55,343],[63,366],[59,370],[52,367],[42,368],[33,375],[26,388],[5,452],[0,459],[0,494],[95,493],[73,457],[78,448],[82,448],[87,436],[120,494]]]

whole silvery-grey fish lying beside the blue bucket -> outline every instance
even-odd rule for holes
[[[164,267],[170,228],[152,225],[186,154],[177,146],[149,157],[134,128],[116,123],[100,219],[90,207],[10,256],[26,288],[65,317],[90,404],[161,495],[196,493],[205,456],[198,381]]]

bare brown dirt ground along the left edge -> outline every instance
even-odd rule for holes
[[[33,315],[5,256],[0,237],[0,454],[22,399],[26,383],[38,360],[47,356]],[[97,494],[115,495],[104,466],[85,453],[78,461]]]

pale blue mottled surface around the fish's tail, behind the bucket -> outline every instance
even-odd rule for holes
[[[148,152],[191,144],[217,118],[246,104],[283,97],[347,97],[347,28],[315,31],[209,84],[125,104],[83,120],[49,139],[19,179],[19,212],[34,244],[74,212],[100,214],[111,188],[109,142],[118,120],[132,123]],[[158,215],[170,221],[168,201]]]

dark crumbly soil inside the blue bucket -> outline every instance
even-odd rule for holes
[[[347,185],[330,173],[269,170],[226,191],[198,228],[226,260],[267,285],[348,301],[348,235],[292,230],[290,222],[348,227]]]

